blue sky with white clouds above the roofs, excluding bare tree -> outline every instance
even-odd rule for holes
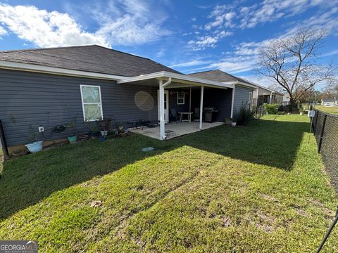
[[[184,73],[256,74],[258,48],[297,27],[327,31],[320,62],[337,60],[338,1],[0,0],[0,50],[99,44]]]

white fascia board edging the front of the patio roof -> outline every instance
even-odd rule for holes
[[[171,78],[173,79],[173,82],[191,82],[196,85],[211,85],[211,86],[219,86],[223,88],[233,88],[234,86],[232,84],[223,84],[221,82],[213,82],[211,80],[207,79],[201,79],[197,77],[190,77],[185,74],[176,74],[172,72],[166,72],[166,71],[161,71],[161,72],[155,72],[151,74],[142,74],[137,77],[127,77],[125,79],[120,79],[118,80],[118,84],[125,84],[129,82],[137,82],[137,81],[142,81],[142,80],[147,80],[147,79],[167,79]]]

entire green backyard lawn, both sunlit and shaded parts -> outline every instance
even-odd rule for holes
[[[0,181],[0,238],[42,252],[314,252],[338,202],[306,131],[306,116],[267,115],[15,158]]]

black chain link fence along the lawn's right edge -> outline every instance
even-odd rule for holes
[[[312,130],[322,155],[325,169],[338,194],[338,115],[315,110]]]

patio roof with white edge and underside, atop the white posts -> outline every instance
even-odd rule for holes
[[[192,77],[186,74],[177,74],[173,72],[161,71],[154,72],[151,74],[141,74],[137,77],[126,77],[118,80],[118,84],[144,84],[149,86],[158,86],[158,80],[162,79],[167,81],[171,79],[169,88],[177,88],[183,86],[206,86],[206,87],[215,87],[221,89],[234,88],[234,84],[223,84],[221,82],[215,82],[208,79],[201,79],[198,77]]]

